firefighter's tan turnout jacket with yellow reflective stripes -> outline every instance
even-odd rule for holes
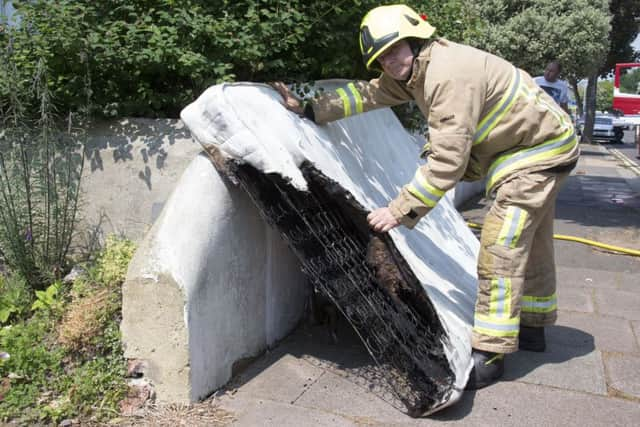
[[[487,52],[435,39],[407,82],[384,73],[313,100],[318,124],[414,100],[428,119],[427,163],[389,208],[412,228],[459,180],[487,177],[487,192],[517,176],[574,163],[569,116],[525,71]]]

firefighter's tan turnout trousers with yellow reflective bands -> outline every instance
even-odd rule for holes
[[[497,189],[480,239],[473,348],[512,353],[521,324],[555,322],[553,218],[567,175],[534,172]]]

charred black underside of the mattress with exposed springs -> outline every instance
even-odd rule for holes
[[[233,167],[303,271],[360,336],[379,367],[376,381],[382,377],[406,412],[418,416],[446,400],[455,379],[436,310],[391,238],[371,232],[368,212],[353,196],[310,163],[301,171],[308,192],[280,175]]]

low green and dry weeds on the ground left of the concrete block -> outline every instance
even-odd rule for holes
[[[41,305],[30,320],[0,329],[0,349],[10,355],[0,363],[0,378],[13,374],[0,401],[0,422],[33,425],[75,417],[106,421],[118,413],[127,392],[120,284],[132,254],[130,241],[109,237],[88,268],[90,278],[74,286],[81,292],[71,292],[71,301],[54,283],[38,293]],[[64,309],[63,316],[51,309],[56,305]],[[84,334],[90,348],[67,346],[61,331],[69,328]]]

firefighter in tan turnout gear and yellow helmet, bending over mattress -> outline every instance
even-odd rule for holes
[[[556,320],[553,257],[555,199],[579,148],[569,116],[531,76],[487,52],[434,36],[405,5],[372,9],[360,25],[368,69],[382,73],[302,103],[282,83],[283,105],[324,124],[415,101],[428,120],[420,166],[370,226],[413,228],[458,181],[486,179],[493,199],[478,257],[478,293],[467,389],[504,372],[504,355],[544,351]]]

